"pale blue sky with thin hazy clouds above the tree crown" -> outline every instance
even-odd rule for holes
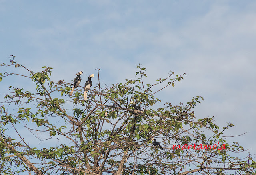
[[[256,153],[255,9],[249,0],[0,0],[0,60],[16,55],[35,71],[50,66],[54,80],[67,82],[99,68],[108,85],[134,78],[139,63],[148,83],[170,70],[186,73],[156,97],[185,104],[203,96],[197,118],[235,124],[228,136],[246,134],[229,139]],[[22,83],[3,79],[1,86]]]

